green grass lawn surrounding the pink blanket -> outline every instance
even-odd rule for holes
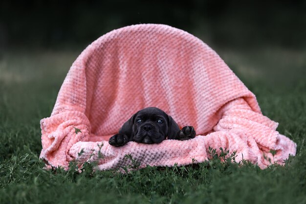
[[[0,204],[305,204],[306,51],[218,50],[263,114],[293,139],[297,156],[265,170],[249,163],[147,167],[121,174],[43,170],[39,121],[50,115],[66,73],[81,50],[19,51],[0,57]]]

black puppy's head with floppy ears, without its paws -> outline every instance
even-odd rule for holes
[[[179,127],[174,119],[154,107],[142,109],[135,113],[119,130],[131,141],[139,143],[160,143],[164,139],[175,138]]]

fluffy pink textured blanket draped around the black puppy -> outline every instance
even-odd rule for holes
[[[180,127],[194,126],[196,138],[109,145],[133,113],[152,106]],[[209,159],[209,147],[222,147],[236,151],[236,161],[265,168],[296,153],[296,144],[277,126],[219,55],[195,36],[168,25],[131,25],[100,37],[73,63],[51,116],[41,120],[41,158],[66,169],[69,161],[90,159],[105,170],[130,164],[125,155],[131,154],[140,167],[172,166],[202,162]]]

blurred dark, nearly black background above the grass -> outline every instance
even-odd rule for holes
[[[221,47],[306,46],[306,1],[2,0],[0,47],[83,47],[137,23],[163,23]]]

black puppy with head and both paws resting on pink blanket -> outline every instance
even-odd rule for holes
[[[133,114],[123,124],[119,133],[109,138],[109,144],[119,147],[129,141],[139,143],[160,143],[164,139],[187,140],[194,138],[196,131],[192,126],[179,129],[174,119],[154,107],[145,108]]]

